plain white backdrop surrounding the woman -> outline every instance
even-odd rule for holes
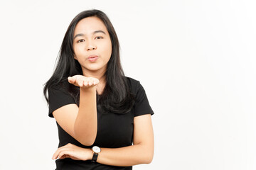
[[[154,160],[134,169],[256,169],[255,1],[1,1],[0,169],[55,169],[43,84],[70,21],[97,8],[155,114]]]

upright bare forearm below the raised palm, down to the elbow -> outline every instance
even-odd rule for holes
[[[75,119],[75,136],[83,145],[92,145],[97,135],[96,87],[80,88],[80,104]]]

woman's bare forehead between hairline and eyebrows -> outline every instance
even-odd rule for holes
[[[91,34],[95,30],[103,30],[105,33],[107,33],[107,28],[105,24],[100,20],[100,18],[90,16],[87,18],[83,18],[78,22],[77,26],[75,26],[74,34]]]

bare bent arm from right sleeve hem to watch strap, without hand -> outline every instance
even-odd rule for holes
[[[154,155],[154,134],[151,115],[134,117],[134,145],[120,148],[102,148],[97,162],[114,166],[149,164]]]

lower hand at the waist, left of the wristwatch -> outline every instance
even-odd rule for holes
[[[87,148],[78,147],[73,144],[67,144],[63,147],[59,147],[53,154],[52,159],[64,159],[71,158],[74,160],[90,160],[92,159],[92,150]]]

